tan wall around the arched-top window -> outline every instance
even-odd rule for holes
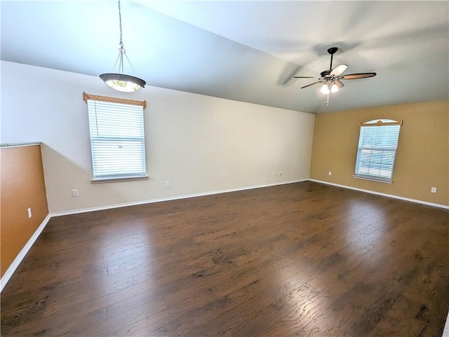
[[[354,179],[359,123],[403,120],[393,183]],[[328,172],[332,175],[329,176]],[[449,205],[449,101],[320,114],[315,118],[311,179]],[[431,193],[431,187],[437,188]]]

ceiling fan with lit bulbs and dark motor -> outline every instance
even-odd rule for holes
[[[318,81],[304,85],[303,87],[301,87],[301,89],[310,87],[311,85],[322,83],[323,86],[321,87],[320,91],[323,92],[323,94],[328,95],[326,106],[329,106],[330,92],[337,92],[339,88],[344,87],[344,84],[341,80],[356,80],[358,78],[367,78],[376,76],[376,73],[358,73],[358,74],[342,75],[343,71],[345,71],[348,67],[346,64],[340,64],[339,66],[335,67],[335,69],[332,69],[333,57],[334,54],[337,53],[337,50],[338,50],[337,47],[332,47],[328,49],[328,53],[330,54],[330,67],[329,70],[322,71],[320,77],[294,76],[294,78],[317,78]]]

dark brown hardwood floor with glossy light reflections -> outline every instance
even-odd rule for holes
[[[56,217],[1,336],[441,336],[448,219],[311,181]]]

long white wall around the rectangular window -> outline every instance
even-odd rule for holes
[[[91,184],[83,91],[147,100],[149,180]],[[125,94],[95,76],[1,62],[0,141],[43,142],[50,212],[308,179],[313,128],[297,111],[151,86]]]

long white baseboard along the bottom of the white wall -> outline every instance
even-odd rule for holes
[[[211,192],[201,192],[201,193],[193,193],[193,194],[185,194],[185,195],[176,195],[176,196],[168,197],[168,198],[158,198],[158,199],[142,200],[142,201],[136,201],[136,202],[125,202],[125,203],[116,204],[116,205],[106,205],[106,206],[99,206],[99,207],[72,209],[70,211],[52,212],[50,215],[53,217],[53,216],[79,214],[79,213],[86,213],[86,212],[103,211],[105,209],[113,209],[113,208],[135,206],[135,205],[145,205],[145,204],[151,204],[153,202],[180,200],[180,199],[187,199],[187,198],[203,197],[205,195],[214,195],[214,194],[220,194],[220,193],[245,191],[245,190],[251,190],[253,188],[263,188],[263,187],[276,186],[276,185],[293,184],[293,183],[299,183],[301,181],[307,181],[307,180],[309,180],[309,179],[282,181],[282,182],[276,182],[274,184],[264,184],[264,185],[257,185],[257,186],[229,188],[229,189],[226,189],[226,190],[211,191]]]

